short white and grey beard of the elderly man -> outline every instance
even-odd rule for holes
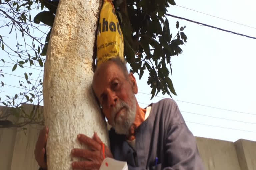
[[[119,101],[120,102],[116,104],[115,108],[112,110],[112,113],[111,113],[111,119],[113,124],[112,127],[115,129],[116,133],[128,135],[130,127],[135,121],[136,99],[134,94],[132,94],[129,102],[131,106],[129,106],[127,103],[125,103],[121,99]],[[115,121],[115,115],[123,107],[125,109],[122,109],[121,113],[118,115]]]

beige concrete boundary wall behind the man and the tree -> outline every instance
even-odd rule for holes
[[[0,106],[0,111],[3,108]],[[0,170],[38,170],[34,148],[42,126],[25,128],[26,134],[17,128],[0,128]],[[203,137],[196,140],[206,170],[256,170],[256,141],[230,142]]]

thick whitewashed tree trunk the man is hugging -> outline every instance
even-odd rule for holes
[[[60,0],[45,63],[43,96],[48,170],[70,170],[79,133],[96,131],[109,145],[106,123],[93,97],[92,56],[100,0]]]

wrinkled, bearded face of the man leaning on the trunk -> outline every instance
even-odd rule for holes
[[[136,115],[134,94],[138,91],[133,74],[125,76],[119,66],[107,61],[94,75],[93,90],[116,133],[129,134]]]

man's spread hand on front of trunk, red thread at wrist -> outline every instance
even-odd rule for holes
[[[83,170],[99,169],[104,159],[102,141],[99,136],[94,132],[92,139],[83,134],[77,135],[77,138],[80,142],[88,146],[88,149],[90,150],[78,148],[72,149],[71,153],[73,156],[86,159],[86,161],[73,162],[72,168]],[[113,155],[107,146],[105,146],[105,157],[113,158]]]

